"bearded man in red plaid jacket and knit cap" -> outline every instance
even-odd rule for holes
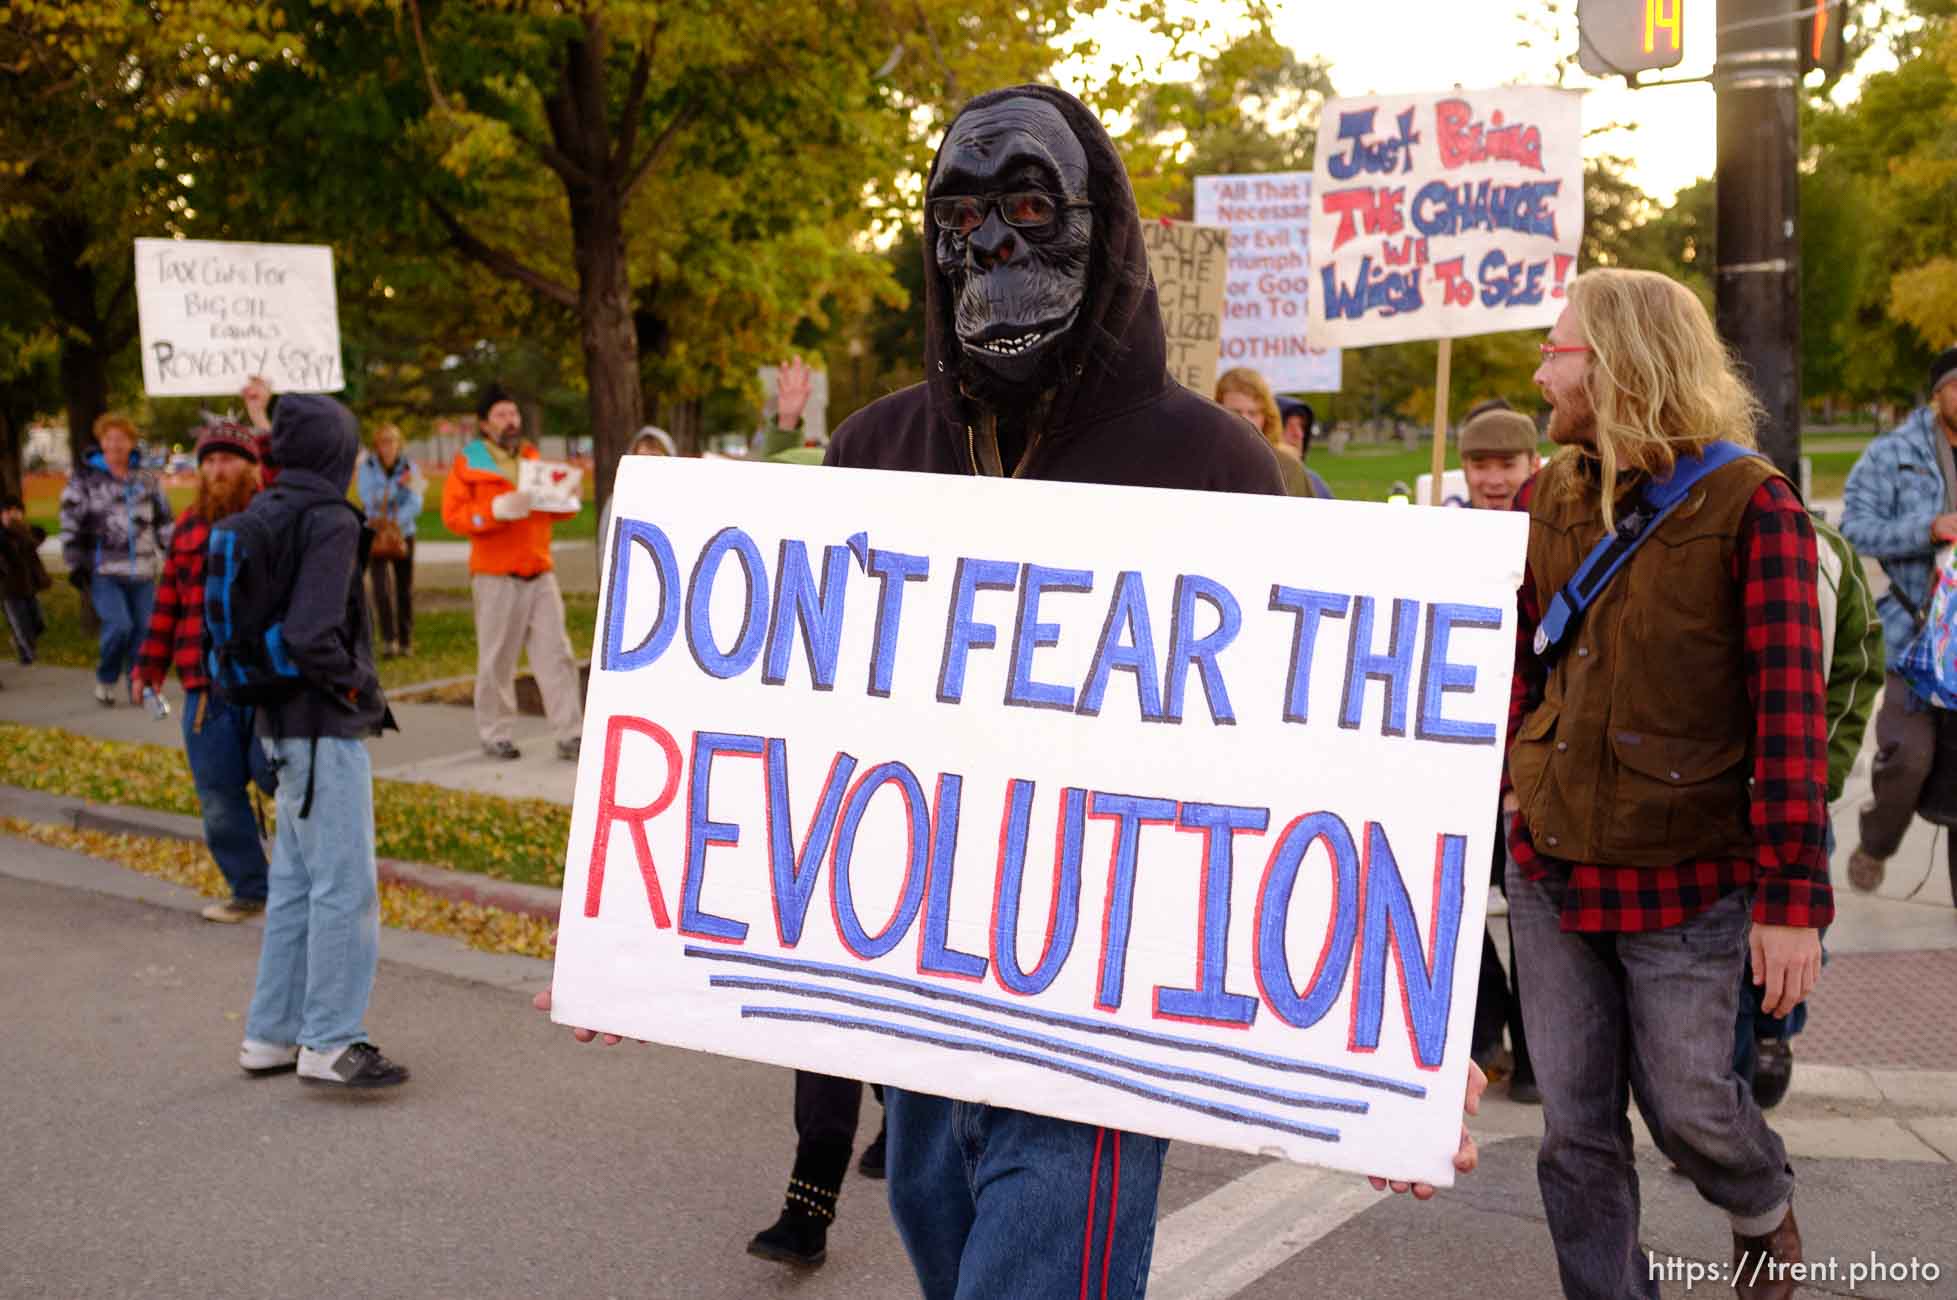
[[[162,693],[176,668],[184,685],[184,754],[204,811],[204,842],[231,885],[231,897],[204,908],[205,920],[235,924],[264,910],[266,859],[250,783],[272,793],[276,781],[252,736],[252,711],[211,691],[204,666],[204,548],[211,525],[243,511],[258,493],[258,444],[245,425],[215,421],[198,437],[198,499],[176,517],[170,554],[157,585],[149,632],[129,675],[129,699]]]

